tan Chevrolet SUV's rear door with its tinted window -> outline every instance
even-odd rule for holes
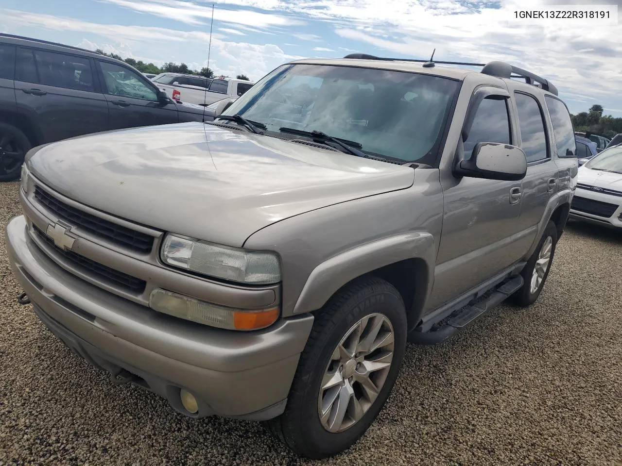
[[[509,86],[514,87],[513,83]],[[557,192],[557,165],[553,158],[552,135],[548,134],[544,98],[537,93],[514,91],[518,119],[519,147],[527,157],[527,174],[522,180],[522,229],[529,230],[536,239],[537,225],[541,222],[550,198]]]

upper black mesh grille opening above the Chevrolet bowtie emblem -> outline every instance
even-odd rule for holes
[[[58,216],[59,219],[70,222],[72,226],[80,227],[93,235],[135,252],[143,254],[151,252],[154,237],[150,235],[134,231],[83,212],[80,209],[63,203],[63,201],[59,201],[57,198],[47,193],[47,191],[39,188],[39,186],[35,188],[35,198],[50,212]]]

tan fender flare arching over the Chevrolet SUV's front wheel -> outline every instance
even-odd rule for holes
[[[294,314],[321,308],[341,286],[358,276],[406,259],[427,266],[427,297],[432,290],[436,248],[429,232],[406,232],[369,242],[335,255],[313,269],[294,306]],[[412,277],[415,286],[415,277]]]

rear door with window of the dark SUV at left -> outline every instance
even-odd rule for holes
[[[108,129],[108,105],[90,58],[17,48],[18,111],[37,123],[41,143]]]

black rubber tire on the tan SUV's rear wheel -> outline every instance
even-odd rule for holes
[[[524,280],[524,284],[520,288],[520,290],[516,291],[514,295],[510,296],[509,301],[516,306],[526,307],[536,302],[538,296],[544,288],[544,283],[546,282],[547,277],[549,276],[550,267],[553,263],[553,257],[555,255],[555,246],[557,245],[557,226],[555,226],[554,222],[549,221],[546,228],[544,229],[544,234],[542,234],[542,238],[538,243],[534,254],[531,255],[529,260],[527,261],[527,265],[522,269],[521,275]],[[537,283],[537,286],[534,285],[532,288],[532,280],[534,280],[534,270],[536,269],[537,262],[540,258],[541,252],[546,250],[550,250],[549,252],[549,260],[547,262],[546,269],[544,273],[541,274],[541,280]],[[542,270],[540,268],[539,270]]]

